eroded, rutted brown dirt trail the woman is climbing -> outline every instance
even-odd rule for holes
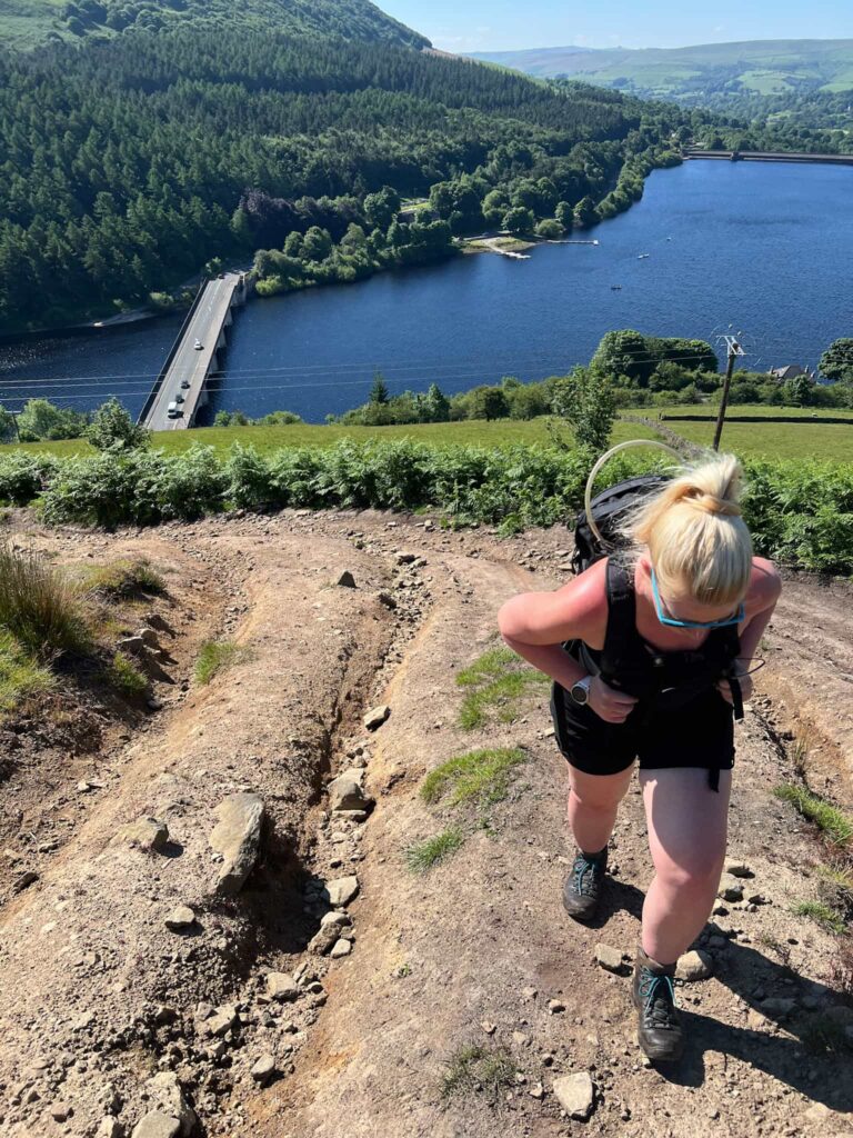
[[[597,942],[636,943],[649,876],[638,795],[616,831],[606,920],[582,929],[560,905],[565,775],[544,690],[515,723],[457,725],[455,674],[495,643],[503,600],[558,583],[564,533],[500,542],[299,512],[33,538],[64,561],[149,555],[167,569],[174,612],[197,620],[181,624],[167,707],[129,741],[107,732],[88,760],[105,787],[66,795],[69,835],[0,910],[3,1133],[130,1135],[155,1108],[158,1071],[180,1080],[199,1133],[234,1138],[853,1132],[853,1009],[830,979],[835,942],[789,913],[817,896],[820,850],[770,793],[793,770],[778,733],[806,725],[819,789],[853,802],[848,588],[789,583],[768,633],[762,693],[738,728],[730,841],[754,874],[747,897],[768,904],[727,904],[703,934],[714,978],[681,988],[690,1045],[661,1073],[637,1048],[628,979],[594,959]],[[356,588],[334,584],[343,569]],[[246,655],[199,688],[190,661],[214,634]],[[362,716],[380,702],[390,718],[368,735]],[[508,797],[485,818],[463,815],[462,848],[413,875],[406,848],[459,823],[421,801],[424,774],[481,747],[523,749]],[[376,799],[363,824],[330,819],[323,800],[353,765]],[[0,802],[26,785],[13,772]],[[208,839],[217,805],[241,791],[264,799],[264,852],[239,899],[216,900]],[[165,853],[117,840],[142,815],[168,824]],[[307,953],[322,883],[350,873],[351,954]],[[165,926],[179,904],[196,913],[189,934]],[[270,971],[298,979],[293,1003],[270,1000]],[[222,1007],[234,1023],[212,1038],[205,1024]],[[821,1055],[827,1023],[834,1050]],[[466,1045],[505,1054],[507,1080],[445,1100],[448,1062]],[[279,1078],[258,1089],[249,1072],[265,1053]],[[561,1116],[553,1092],[575,1071],[596,1088],[586,1123]],[[99,1130],[110,1118],[121,1129]]]

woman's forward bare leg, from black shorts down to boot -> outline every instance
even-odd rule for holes
[[[655,877],[643,906],[643,950],[672,964],[702,931],[726,858],[731,772],[720,791],[707,770],[668,767],[640,773]]]

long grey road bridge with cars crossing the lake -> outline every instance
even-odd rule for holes
[[[207,403],[207,380],[218,371],[225,329],[233,310],[246,302],[246,277],[223,273],[205,281],[146,401],[139,422],[150,430],[187,430]],[[199,346],[200,345],[200,346]],[[169,414],[176,404],[179,414]]]

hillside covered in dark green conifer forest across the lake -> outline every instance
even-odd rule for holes
[[[633,156],[622,207],[672,131],[703,121],[406,47],[246,27],[7,52],[0,328],[103,314],[210,257],[281,248],[282,216],[337,240],[371,191],[426,193],[489,163],[482,193],[547,175],[543,201],[593,195],[593,220]]]

